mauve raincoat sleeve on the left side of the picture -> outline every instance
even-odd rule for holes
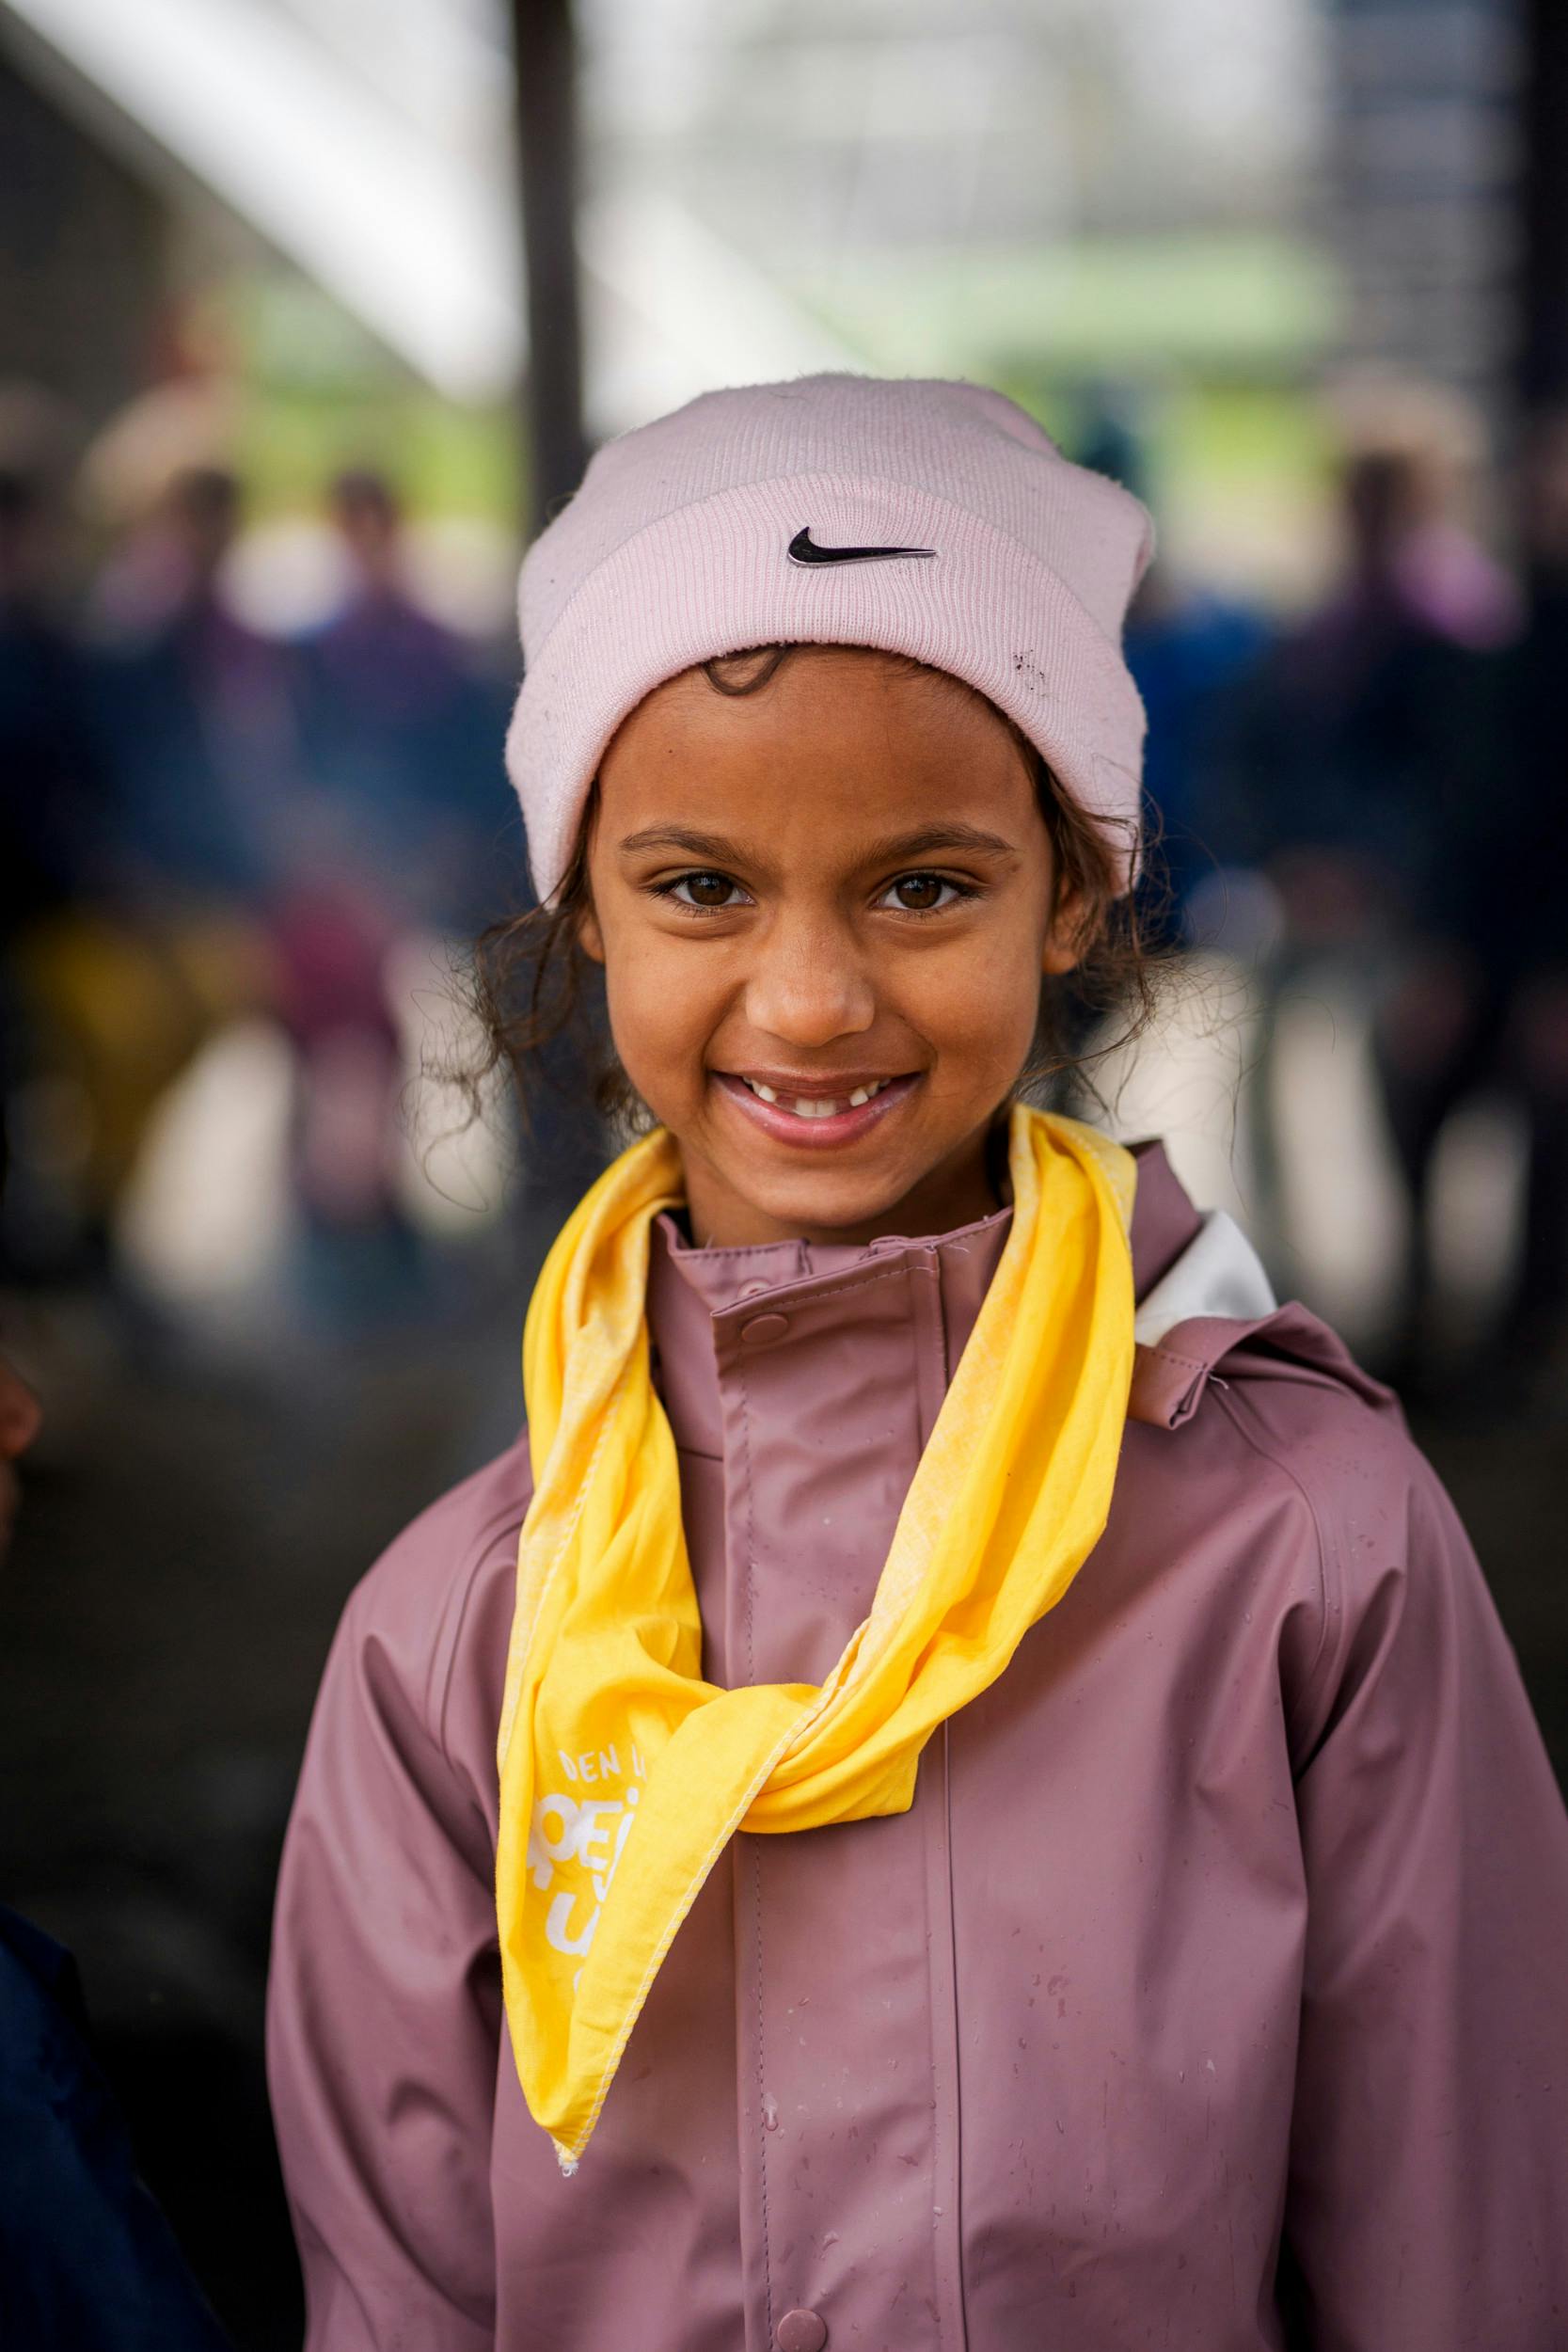
[[[494,1839],[428,1698],[442,1611],[381,1573],[409,1543],[339,1625],[277,1886],[268,2082],[308,2352],[494,2345]]]

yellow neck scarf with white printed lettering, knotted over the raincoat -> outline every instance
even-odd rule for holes
[[[644,1317],[649,1228],[682,1197],[663,1129],[607,1169],[538,1277],[496,1910],[517,2074],[564,2171],[726,1839],[903,1813],[936,1726],[997,1679],[1105,1526],[1133,1376],[1135,1164],[1093,1127],[1016,1105],[1009,1169],[1001,1263],[870,1616],[820,1689],[701,1679]]]

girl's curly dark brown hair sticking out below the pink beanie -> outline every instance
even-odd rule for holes
[[[757,644],[703,661],[701,670],[717,694],[759,694],[795,652],[799,652],[797,644]],[[950,670],[936,670],[903,654],[884,659],[905,675],[924,673],[940,677],[954,694],[976,694]],[[1030,1058],[1018,1077],[1018,1091],[1056,1094],[1058,1098],[1077,1091],[1100,1101],[1091,1075],[1093,1063],[1138,1037],[1159,1004],[1166,957],[1157,938],[1168,884],[1157,866],[1157,828],[1154,823],[1143,828],[1138,889],[1119,896],[1112,854],[1100,826],[1063,793],[1025,731],[1006,713],[997,710],[997,717],[1004,720],[1034,771],[1034,788],[1056,851],[1058,903],[1070,891],[1081,901],[1079,964],[1065,981],[1041,983],[1039,1021]],[[484,1049],[477,1063],[447,1075],[468,1091],[475,1112],[487,1094],[487,1082],[505,1068],[517,1091],[524,1127],[538,1103],[541,1087],[581,1094],[583,1080],[588,1080],[595,1108],[623,1131],[646,1124],[646,1105],[625,1077],[609,1035],[599,967],[578,941],[578,927],[590,906],[588,842],[597,793],[595,779],[576,854],[550,903],[529,906],[491,922],[468,953],[465,993],[477,1014]],[[1131,821],[1124,823],[1128,833],[1135,830]],[[1103,1014],[1121,1014],[1119,1030],[1093,1051],[1081,1051],[1088,1030]]]

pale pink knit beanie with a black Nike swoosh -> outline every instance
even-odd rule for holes
[[[541,901],[621,720],[750,644],[865,644],[978,687],[1135,877],[1143,703],[1121,619],[1145,508],[976,383],[802,376],[623,433],[529,548],[505,764]]]

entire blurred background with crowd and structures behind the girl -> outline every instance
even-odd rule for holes
[[[454,1080],[512,574],[708,386],[1154,508],[1173,985],[1070,1108],[1399,1383],[1568,1769],[1566,120],[1549,0],[0,0],[0,1896],[242,2347],[315,1679],[595,1150]]]

